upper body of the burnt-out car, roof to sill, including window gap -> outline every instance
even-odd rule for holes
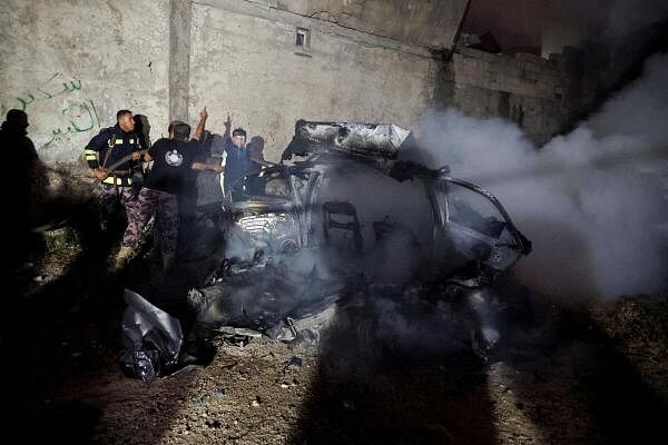
[[[450,177],[448,167],[402,159],[411,144],[395,125],[301,121],[282,164],[239,180],[242,199],[226,201],[242,240],[230,251],[284,255],[338,243],[340,253],[347,245],[358,257],[401,234],[410,243],[397,254],[418,254],[424,273],[475,264],[488,278],[530,251],[491,192]],[[302,159],[284,164],[294,157]]]

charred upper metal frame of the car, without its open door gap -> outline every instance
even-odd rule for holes
[[[531,243],[520,233],[501,202],[487,189],[449,176],[449,168],[431,169],[411,160],[399,159],[401,149],[414,144],[412,134],[389,123],[347,123],[298,121],[295,136],[283,154],[282,162],[263,166],[242,178],[233,188],[244,196],[235,201],[227,197],[224,207],[233,215],[236,226],[247,234],[256,247],[271,254],[285,254],[313,247],[328,239],[328,229],[338,228],[353,234],[355,249],[362,251],[360,222],[350,202],[320,202],[323,209],[324,239],[313,236],[313,214],[318,207],[318,191],[327,184],[331,174],[351,164],[366,165],[400,182],[420,180],[424,187],[432,212],[430,264],[434,275],[449,274],[443,258],[452,257],[458,249],[456,239],[466,238],[474,245],[473,253],[464,253],[468,260],[477,263],[478,273],[485,279],[508,270],[531,250]],[[304,157],[292,165],[284,164],[293,156]],[[285,189],[281,195],[261,192],[253,181],[263,178],[283,178]],[[268,182],[268,181],[267,181]],[[463,204],[451,197],[451,191],[463,188],[490,202],[500,220],[485,221],[482,216],[468,210],[473,220],[458,220],[458,207]],[[461,212],[461,211],[460,211]],[[341,222],[334,214],[346,215],[352,221]],[[488,218],[489,219],[489,218]],[[490,224],[502,227],[491,230]],[[375,224],[375,222],[374,222]],[[264,247],[263,247],[264,246]],[[452,265],[450,265],[452,266]]]

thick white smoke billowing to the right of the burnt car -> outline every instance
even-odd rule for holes
[[[668,55],[571,134],[538,149],[500,119],[430,112],[431,161],[489,188],[533,241],[517,275],[554,296],[668,290]]]

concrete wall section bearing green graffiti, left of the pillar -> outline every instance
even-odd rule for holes
[[[0,2],[0,109],[24,109],[46,161],[81,158],[129,108],[167,125],[168,0]]]

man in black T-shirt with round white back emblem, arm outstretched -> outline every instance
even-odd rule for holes
[[[148,150],[144,159],[154,162],[151,170],[139,190],[138,217],[128,224],[124,241],[131,248],[139,245],[144,226],[156,215],[159,224],[163,269],[168,269],[175,259],[179,211],[177,196],[181,191],[186,175],[190,170],[223,169],[218,164],[198,162],[199,141],[189,140],[190,126],[176,123],[174,139],[160,139]],[[122,266],[122,265],[118,265]]]

